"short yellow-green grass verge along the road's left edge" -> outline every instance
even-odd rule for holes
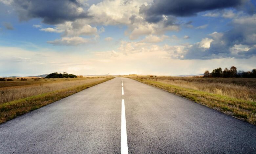
[[[48,92],[48,93],[35,95],[35,96],[27,97],[24,99],[0,104],[0,124],[8,120],[11,120],[17,116],[20,116],[22,114],[25,114],[27,112],[38,109],[42,106],[46,106],[57,100],[60,100],[62,98],[75,94],[81,90],[84,90],[89,87],[95,86],[97,84],[103,83],[105,81],[111,80],[113,78],[114,77],[106,78],[104,80],[88,83],[82,86],[56,90],[53,92]]]

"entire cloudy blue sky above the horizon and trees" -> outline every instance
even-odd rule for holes
[[[0,0],[0,76],[256,68],[254,0]]]

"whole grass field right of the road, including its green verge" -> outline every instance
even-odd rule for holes
[[[256,125],[256,79],[124,76]]]

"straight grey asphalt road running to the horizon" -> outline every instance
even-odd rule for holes
[[[0,125],[1,154],[121,153],[121,145],[122,153],[256,153],[256,126],[127,78]]]

